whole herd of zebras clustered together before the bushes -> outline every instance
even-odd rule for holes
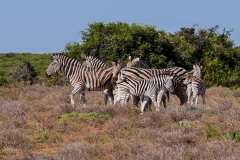
[[[86,104],[85,91],[103,91],[104,103],[126,105],[140,102],[141,113],[150,102],[159,111],[161,103],[166,107],[169,94],[175,94],[180,105],[198,103],[202,96],[205,103],[205,85],[201,79],[201,67],[193,65],[187,72],[181,67],[150,69],[140,58],[129,58],[127,65],[112,62],[111,66],[93,56],[86,56],[81,63],[64,54],[53,55],[46,74],[63,72],[73,87],[70,100],[75,107],[74,95],[80,94],[80,103]]]

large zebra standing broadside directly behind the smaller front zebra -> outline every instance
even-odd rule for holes
[[[142,69],[135,67],[125,67],[121,69],[119,74],[113,75],[113,77],[118,77],[120,80],[124,80],[126,78],[132,80],[141,80],[151,79],[154,76],[164,73],[171,73],[177,77],[177,83],[174,84],[174,94],[180,99],[180,105],[184,105],[187,102],[186,85],[183,84],[184,76],[186,75],[187,71],[184,68],[172,67],[165,69]],[[135,100],[135,105],[137,105],[139,101],[138,99]]]

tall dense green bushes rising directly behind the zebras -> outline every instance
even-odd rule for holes
[[[239,85],[240,48],[230,39],[230,31],[219,31],[218,26],[168,33],[146,25],[92,23],[82,32],[82,42],[67,44],[66,51],[71,57],[94,55],[107,62],[140,56],[154,68],[190,70],[201,62],[203,78],[210,85]]]

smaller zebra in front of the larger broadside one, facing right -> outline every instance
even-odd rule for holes
[[[128,79],[124,81],[117,81],[121,88],[129,91],[131,95],[139,96],[142,99],[141,113],[144,112],[144,108],[149,99],[152,100],[156,111],[159,111],[160,103],[163,100],[163,95],[169,91],[174,92],[174,80],[173,76],[168,74],[157,75],[151,79],[133,80]],[[166,105],[166,104],[165,104]],[[166,107],[164,105],[164,107]]]

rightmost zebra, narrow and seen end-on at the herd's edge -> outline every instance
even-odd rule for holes
[[[187,96],[188,96],[188,103],[193,105],[198,104],[198,97],[201,95],[203,104],[205,104],[205,93],[206,93],[206,86],[204,81],[201,79],[201,68],[199,65],[193,65],[193,70],[186,75],[186,78],[183,82],[187,85]]]

